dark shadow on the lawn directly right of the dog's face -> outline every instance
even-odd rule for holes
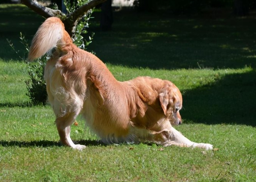
[[[185,122],[256,126],[256,70],[186,90],[183,106]]]

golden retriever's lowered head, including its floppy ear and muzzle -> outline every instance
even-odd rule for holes
[[[180,90],[170,83],[160,90],[158,98],[164,115],[170,120],[171,124],[181,124],[182,119],[179,111],[182,108],[182,95]]]

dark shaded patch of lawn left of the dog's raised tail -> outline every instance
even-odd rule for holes
[[[26,50],[20,43],[20,32],[28,39],[30,45],[36,30],[43,21],[44,18],[25,6],[6,5],[6,8],[0,8],[0,58],[4,61],[19,60],[6,39],[12,42],[21,57],[26,58]]]

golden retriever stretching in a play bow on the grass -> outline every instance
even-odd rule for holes
[[[86,147],[70,138],[70,126],[82,114],[106,144],[150,141],[163,146],[213,148],[191,142],[172,127],[182,122],[182,95],[172,82],[150,77],[119,82],[99,58],[73,44],[64,24],[55,17],[38,28],[28,61],[52,49],[44,79],[62,144],[78,150]]]

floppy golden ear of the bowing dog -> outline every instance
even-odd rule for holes
[[[164,115],[168,116],[170,114],[170,107],[172,106],[172,92],[168,92],[168,90],[163,89],[158,95],[161,107],[164,111]]]

